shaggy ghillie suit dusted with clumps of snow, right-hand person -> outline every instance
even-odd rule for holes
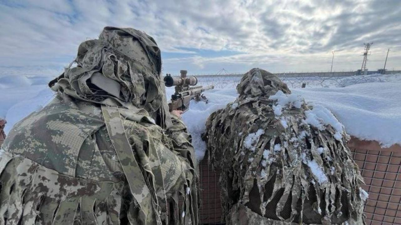
[[[322,124],[265,70],[244,74],[237,91],[206,134],[227,224],[363,224],[366,193],[342,125]]]

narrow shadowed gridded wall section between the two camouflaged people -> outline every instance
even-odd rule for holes
[[[219,224],[221,223],[220,171],[213,171],[208,165],[207,159],[204,159],[199,164],[199,173],[201,189],[199,222],[201,224]]]

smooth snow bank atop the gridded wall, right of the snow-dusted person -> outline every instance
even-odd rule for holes
[[[382,147],[401,145],[401,81],[344,88],[298,88],[292,93],[328,108],[348,135],[378,141]]]

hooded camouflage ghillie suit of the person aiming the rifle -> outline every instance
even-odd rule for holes
[[[168,112],[160,50],[105,27],[17,123],[0,159],[0,224],[197,224],[197,164]]]

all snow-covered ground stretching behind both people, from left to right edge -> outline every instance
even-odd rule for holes
[[[183,119],[192,134],[198,159],[205,153],[201,134],[207,117],[237,97],[239,77],[198,77],[201,85],[214,85],[205,92],[209,104],[191,102]],[[7,120],[5,132],[34,110],[50,102],[54,93],[47,87],[50,78],[39,76],[0,77],[0,118]],[[401,145],[401,74],[351,77],[283,78],[293,94],[307,102],[330,109],[349,135],[379,141],[383,147]],[[302,83],[306,88],[301,88]],[[167,98],[174,88],[167,88]],[[319,107],[320,107],[319,106]]]

